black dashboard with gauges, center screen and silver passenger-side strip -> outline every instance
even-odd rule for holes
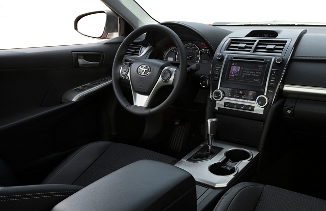
[[[326,124],[320,116],[326,113],[325,28],[161,24],[182,40],[188,66],[200,65],[194,73],[194,86],[199,87],[194,95],[210,99],[206,110],[211,109],[211,116],[225,125],[221,138],[257,147],[261,135],[271,128],[271,116],[279,116],[292,132],[322,134],[314,130],[320,126],[313,123]],[[151,46],[146,58],[178,65],[171,40],[154,32],[146,38],[142,43]],[[298,120],[303,118],[312,124]],[[238,128],[237,133],[232,127]]]

